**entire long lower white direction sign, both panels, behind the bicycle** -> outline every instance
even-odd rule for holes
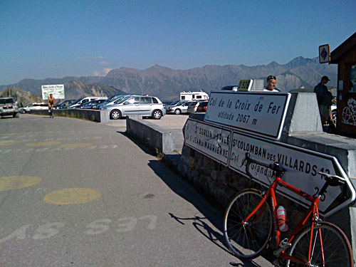
[[[246,152],[250,153],[251,158],[266,164],[278,162],[286,169],[283,181],[312,196],[317,194],[325,183],[318,172],[343,177],[346,181],[345,187],[342,187],[342,189],[340,187],[329,187],[325,196],[321,198],[320,214],[325,216],[335,213],[335,211],[355,200],[355,189],[350,179],[337,159],[330,155],[305,150],[276,140],[253,137],[244,132],[231,132],[225,127],[218,127],[190,118],[184,127],[184,139],[185,144],[189,147],[221,164],[227,164],[229,168],[245,176],[248,176],[243,162]],[[250,172],[256,182],[266,187],[269,187],[273,182],[274,177],[271,169],[251,164]],[[283,187],[278,187],[278,191],[298,204],[303,206],[310,204],[302,197]]]

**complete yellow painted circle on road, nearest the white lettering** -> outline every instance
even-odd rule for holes
[[[65,188],[51,192],[44,197],[49,204],[71,205],[83,204],[101,197],[100,192],[89,188]]]

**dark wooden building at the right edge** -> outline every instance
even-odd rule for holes
[[[331,52],[337,64],[337,125],[340,135],[356,137],[356,33]]]

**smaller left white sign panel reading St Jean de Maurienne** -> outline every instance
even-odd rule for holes
[[[185,144],[227,165],[231,131],[196,120],[187,120],[184,127]]]

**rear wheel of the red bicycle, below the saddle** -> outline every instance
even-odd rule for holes
[[[302,259],[308,265],[288,261],[287,267],[295,266],[353,266],[352,250],[344,232],[334,224],[320,222],[314,226],[310,245],[311,227],[305,229],[293,242],[289,255]],[[310,253],[310,258],[309,258]]]

